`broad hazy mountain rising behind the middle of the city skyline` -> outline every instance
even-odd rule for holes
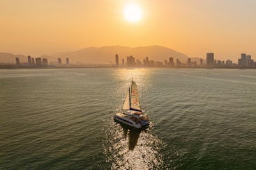
[[[84,63],[114,63],[115,54],[119,55],[119,62],[127,56],[134,56],[141,61],[145,57],[149,57],[149,60],[164,61],[173,57],[174,62],[176,58],[179,58],[182,62],[186,62],[187,56],[173,49],[168,49],[164,46],[139,46],[139,47],[127,47],[127,46],[103,46],[103,47],[89,47],[81,49],[79,51],[69,51],[62,53],[55,53],[52,56],[59,58],[70,58],[70,62],[84,62]]]

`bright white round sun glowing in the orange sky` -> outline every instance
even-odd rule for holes
[[[129,22],[139,22],[142,19],[142,10],[137,4],[130,3],[124,8],[123,15]]]

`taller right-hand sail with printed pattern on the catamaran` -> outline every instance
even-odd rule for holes
[[[137,89],[137,85],[134,81],[132,81],[132,87],[131,87],[130,109],[142,111],[142,108],[140,108],[139,92]]]

